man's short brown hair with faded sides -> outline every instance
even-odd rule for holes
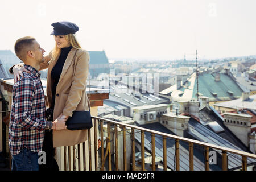
[[[20,60],[26,59],[26,54],[28,51],[30,51],[33,48],[35,38],[32,36],[25,36],[23,38],[20,38],[16,40],[14,45],[14,50],[16,53],[16,56],[19,57]]]

